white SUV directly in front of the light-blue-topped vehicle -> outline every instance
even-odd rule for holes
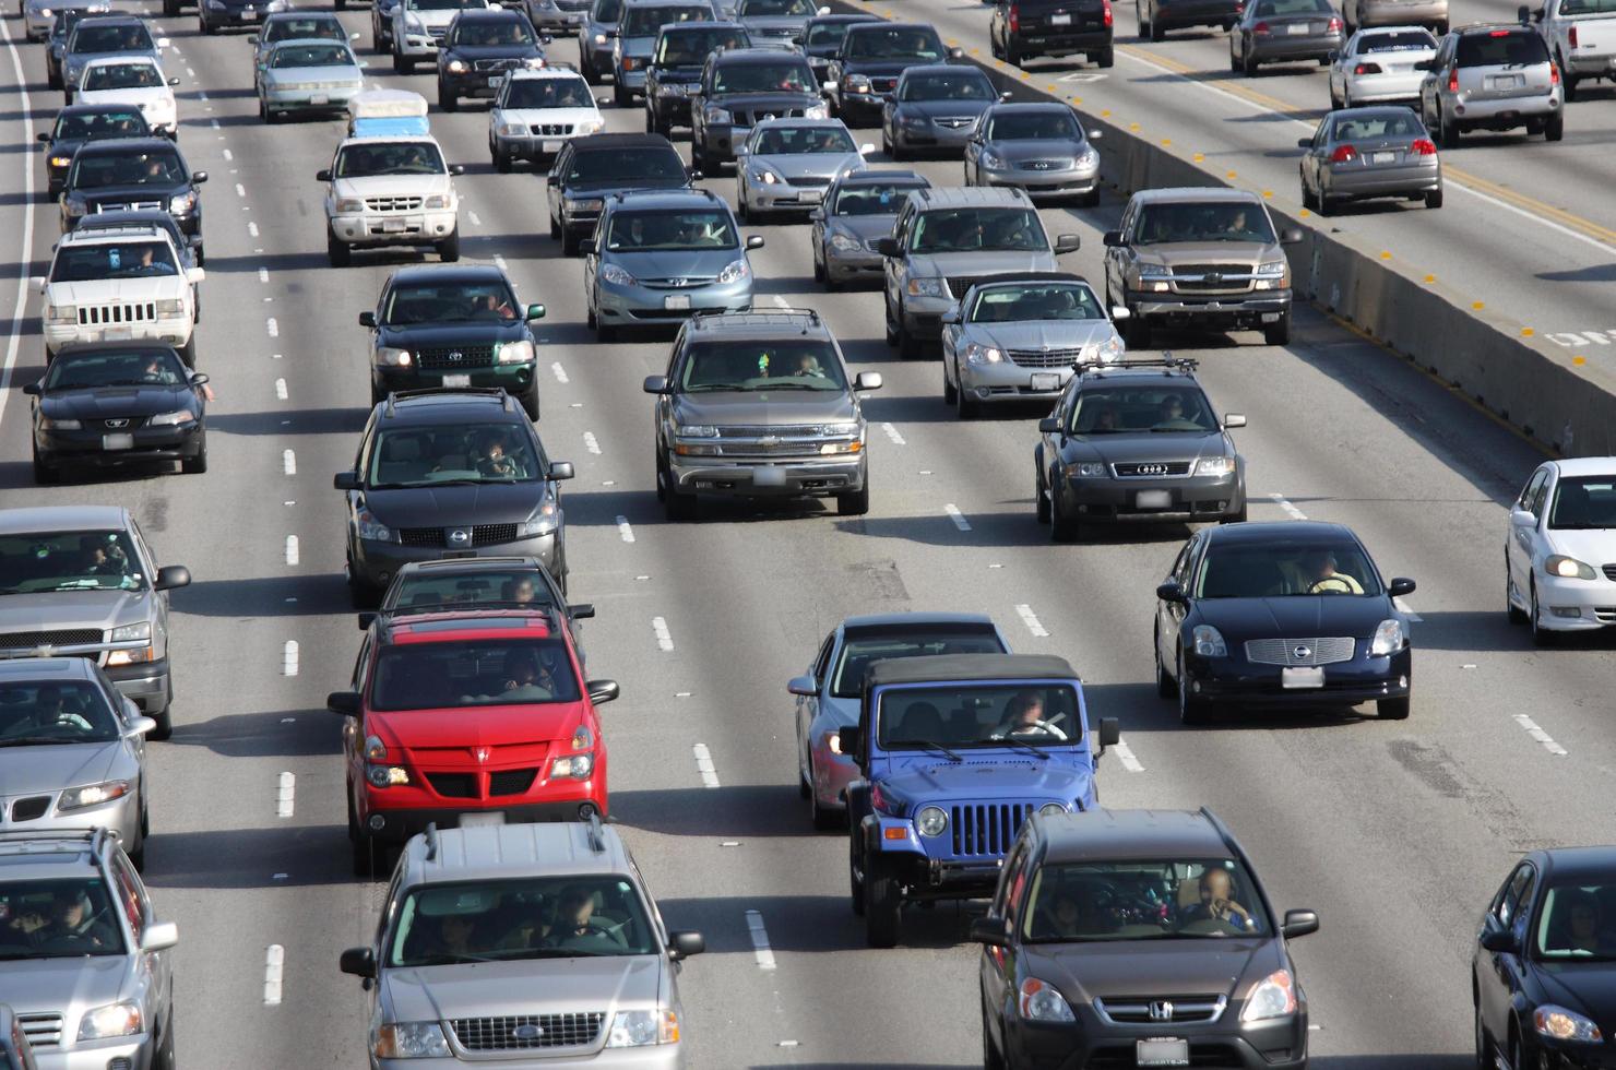
[[[433,137],[347,137],[325,183],[326,255],[347,267],[354,249],[431,246],[444,263],[461,259],[461,197]]]

